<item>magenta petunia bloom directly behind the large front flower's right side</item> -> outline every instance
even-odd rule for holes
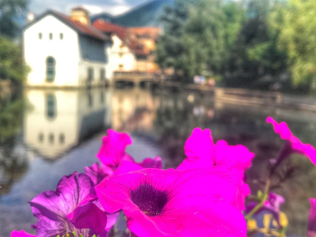
[[[245,209],[245,198],[250,194],[249,186],[244,182],[244,172],[251,166],[254,153],[243,145],[230,146],[220,140],[214,145],[211,131],[195,128],[185,142],[185,160],[177,170],[198,167],[211,167],[231,164],[237,177],[236,198],[232,203],[239,209]]]

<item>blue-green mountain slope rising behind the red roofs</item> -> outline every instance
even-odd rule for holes
[[[174,0],[152,0],[118,16],[107,13],[91,16],[91,22],[101,18],[124,27],[158,27],[164,7],[173,3]]]

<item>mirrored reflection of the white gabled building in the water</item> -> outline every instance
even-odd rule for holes
[[[27,89],[25,98],[24,141],[47,159],[111,125],[109,90]]]

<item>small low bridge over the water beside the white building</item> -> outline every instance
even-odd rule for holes
[[[142,71],[115,71],[113,84],[116,82],[132,82],[137,85],[141,82],[152,82],[154,74]]]

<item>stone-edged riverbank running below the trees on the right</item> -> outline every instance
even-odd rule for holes
[[[173,91],[192,91],[212,94],[214,100],[232,104],[274,106],[278,108],[316,111],[316,97],[313,96],[243,88],[210,87],[208,85],[183,84],[171,81],[154,83],[153,86],[154,88],[166,88]]]

